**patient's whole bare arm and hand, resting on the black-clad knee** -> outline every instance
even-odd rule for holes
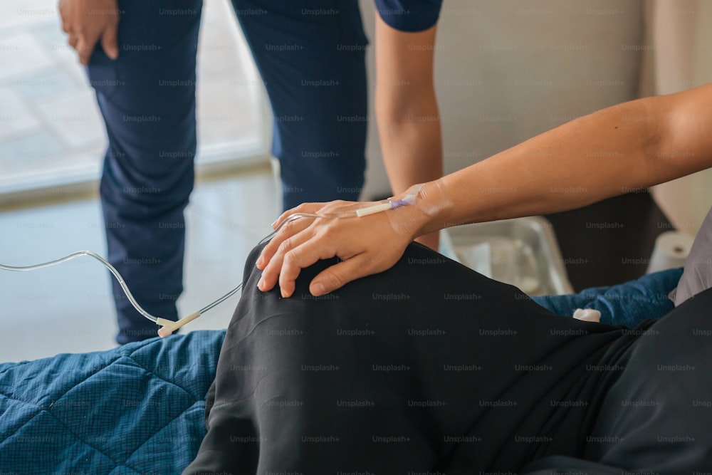
[[[389,268],[422,234],[456,224],[575,209],[712,167],[710,111],[712,84],[633,100],[425,183],[419,193],[424,202],[440,196],[449,201],[446,207],[435,204],[435,214],[407,206],[362,218],[292,221],[263,249],[258,288],[268,291],[278,284],[282,295],[290,296],[300,269],[337,256],[342,261],[310,283],[313,295],[323,295]],[[370,205],[303,204],[280,216],[275,226],[295,212],[340,213]]]

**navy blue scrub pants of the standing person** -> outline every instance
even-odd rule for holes
[[[358,199],[365,170],[365,46],[356,0],[232,0],[266,84],[283,207]],[[108,259],[150,313],[177,318],[184,208],[196,152],[201,0],[119,1],[120,54],[88,67],[109,147],[100,197]],[[119,343],[156,335],[112,281]]]

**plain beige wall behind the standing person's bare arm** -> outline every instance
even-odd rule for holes
[[[372,39],[374,2],[361,6]],[[436,88],[446,172],[637,97],[642,12],[642,0],[444,0]],[[373,120],[369,133],[365,197],[389,191]]]

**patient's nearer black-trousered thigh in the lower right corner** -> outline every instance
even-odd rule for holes
[[[639,337],[602,404],[586,458],[644,473],[712,471],[712,290]]]

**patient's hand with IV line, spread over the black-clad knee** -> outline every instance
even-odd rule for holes
[[[283,213],[273,227],[294,213],[348,214],[342,218],[300,218],[284,225],[265,246],[257,260],[263,270],[258,283],[268,291],[279,283],[283,297],[294,293],[301,269],[320,259],[337,256],[342,262],[319,273],[309,286],[313,296],[335,291],[357,278],[385,271],[403,255],[406,246],[419,235],[422,212],[411,206],[357,217],[357,209],[377,203],[308,203]]]

